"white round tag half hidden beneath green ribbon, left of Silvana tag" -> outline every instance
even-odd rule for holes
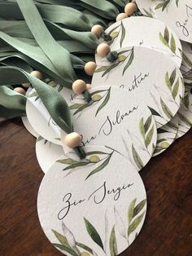
[[[60,94],[63,95],[63,98],[68,104],[70,104],[70,101],[76,97],[72,90],[64,88],[63,86],[55,86],[55,90],[59,90]],[[44,104],[42,104],[41,99],[39,99],[37,91],[34,89],[28,95],[26,113],[28,121],[37,134],[52,143],[61,144],[60,128],[50,117],[50,113],[48,113]]]

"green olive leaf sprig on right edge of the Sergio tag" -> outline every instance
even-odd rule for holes
[[[139,224],[142,222],[142,218],[144,217],[144,214],[146,213],[146,211],[144,211],[142,214],[140,214],[146,205],[146,199],[143,201],[140,201],[137,205],[135,205],[136,201],[137,201],[137,198],[134,198],[133,201],[130,203],[129,209],[128,209],[128,223],[129,223],[128,231],[127,231],[128,238],[130,234],[137,229]],[[140,215],[137,216],[138,214]]]

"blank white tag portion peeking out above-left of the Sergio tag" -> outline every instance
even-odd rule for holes
[[[55,143],[43,139],[41,136],[36,141],[36,156],[41,170],[46,174],[55,161],[63,155],[63,148]]]

